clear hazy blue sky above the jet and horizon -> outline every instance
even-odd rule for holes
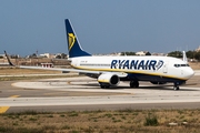
[[[1,0],[0,53],[68,53],[70,19],[89,53],[200,45],[200,0]]]

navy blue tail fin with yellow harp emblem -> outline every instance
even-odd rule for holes
[[[69,19],[66,19],[66,32],[67,32],[68,50],[69,50],[70,58],[90,57],[91,55],[82,50],[82,48],[79,43],[79,40],[77,38],[77,34],[76,34]]]

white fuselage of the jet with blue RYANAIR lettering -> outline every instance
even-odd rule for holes
[[[81,57],[71,58],[71,61],[74,68],[82,70],[157,75],[183,81],[194,73],[182,60],[169,57]]]

